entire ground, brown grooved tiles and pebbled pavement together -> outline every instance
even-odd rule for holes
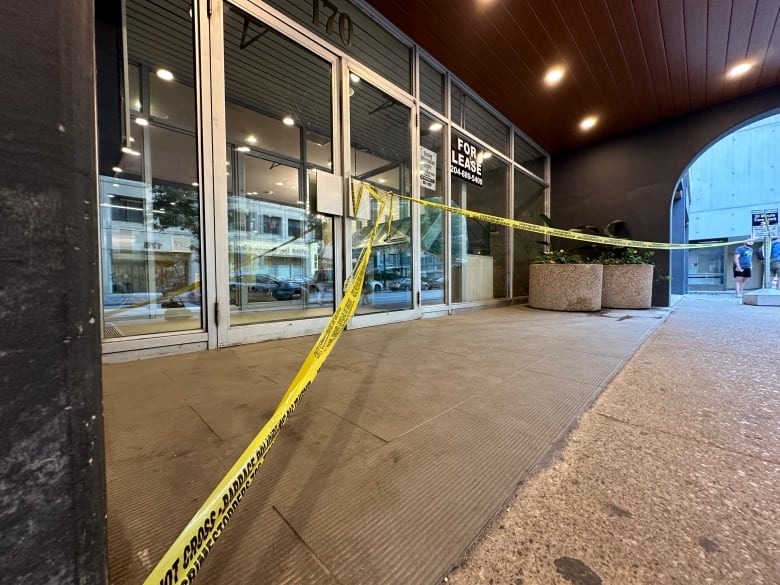
[[[780,583],[779,335],[731,297],[347,331],[197,582]],[[104,368],[113,585],[143,581],[313,341]]]

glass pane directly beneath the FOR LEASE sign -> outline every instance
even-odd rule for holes
[[[458,135],[452,135],[456,141]],[[452,175],[452,205],[500,217],[508,216],[509,163],[481,160],[482,186]],[[452,218],[452,300],[484,301],[507,296],[508,228],[478,219]]]

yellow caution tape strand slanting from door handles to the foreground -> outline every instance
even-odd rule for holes
[[[381,199],[377,196],[377,199]],[[385,200],[380,200],[378,217],[384,213]],[[371,244],[380,222],[374,224],[371,237],[363,248],[357,264],[347,279],[344,297],[336,311],[309,352],[303,365],[287,388],[274,414],[244,449],[241,456],[225,474],[192,520],[163,555],[157,566],[144,581],[144,585],[189,585],[198,574],[209,551],[222,535],[239,502],[246,494],[260,466],[265,461],[271,445],[287,418],[298,406],[304,393],[317,377],[320,367],[330,355],[347,323],[355,314],[360,302]]]

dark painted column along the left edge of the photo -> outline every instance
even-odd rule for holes
[[[106,578],[92,0],[0,3],[0,581]]]

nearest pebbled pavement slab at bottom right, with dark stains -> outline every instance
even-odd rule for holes
[[[778,583],[778,479],[777,463],[590,412],[448,582],[559,585],[573,559],[598,578],[574,583]]]

